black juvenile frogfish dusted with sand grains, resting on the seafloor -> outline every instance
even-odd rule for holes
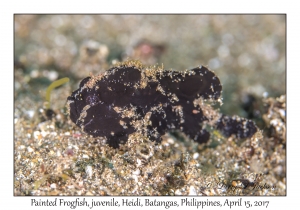
[[[221,102],[221,93],[219,78],[204,66],[172,71],[126,61],[83,79],[67,107],[77,126],[113,148],[134,132],[160,142],[166,132],[178,130],[206,143],[207,125],[225,136],[251,137],[257,131],[253,121],[222,115],[207,103]]]

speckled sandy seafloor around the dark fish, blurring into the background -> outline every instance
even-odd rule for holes
[[[284,15],[15,15],[14,195],[286,195]],[[252,138],[211,131],[112,149],[69,119],[66,98],[90,73],[139,59],[165,69],[208,66],[227,115]],[[51,82],[69,77],[53,90]],[[245,187],[248,185],[248,187]]]

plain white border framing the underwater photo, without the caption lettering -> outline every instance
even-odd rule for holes
[[[4,1],[3,1],[4,2]],[[269,200],[268,208],[297,206],[299,188],[299,8],[287,1],[6,1],[1,3],[1,201],[3,209],[30,208],[30,197],[13,197],[13,14],[14,13],[286,13],[287,14],[287,196],[286,197],[243,197],[247,200]],[[296,162],[297,161],[297,162]],[[73,200],[75,197],[66,197]],[[228,198],[228,197],[227,197]],[[46,197],[43,197],[46,199]],[[90,198],[89,198],[90,199]],[[97,197],[97,199],[102,199]],[[105,199],[110,199],[105,197]],[[122,199],[118,197],[117,199]],[[171,200],[171,198],[168,198]],[[180,199],[180,198],[175,198]],[[225,201],[214,197],[212,200]],[[232,200],[236,198],[230,198]],[[206,200],[206,198],[205,198]],[[59,207],[58,209],[63,209]],[[69,209],[65,207],[64,209]],[[123,208],[122,208],[123,209]],[[162,207],[161,209],[165,209]]]

